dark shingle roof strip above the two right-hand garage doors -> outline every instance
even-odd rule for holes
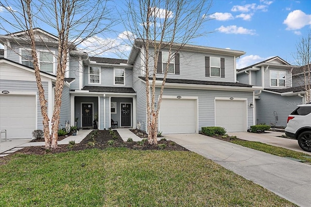
[[[139,77],[141,80],[145,80],[145,77]],[[149,78],[152,80],[152,78]],[[157,78],[156,80],[163,80]],[[221,85],[221,86],[238,86],[238,87],[252,87],[252,85],[237,83],[237,82],[216,82],[216,81],[204,81],[204,80],[183,80],[183,79],[166,79],[167,83],[183,83],[183,84],[198,84],[198,85]]]

